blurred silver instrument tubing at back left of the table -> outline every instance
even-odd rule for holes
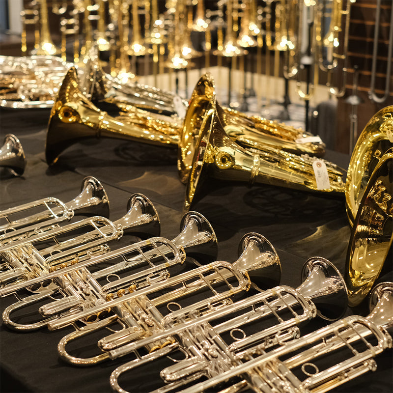
[[[52,108],[70,66],[56,56],[0,56],[0,106]]]

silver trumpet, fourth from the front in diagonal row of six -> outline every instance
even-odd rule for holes
[[[57,319],[62,313],[67,315],[105,303],[113,296],[112,291],[120,296],[125,289],[138,289],[166,280],[168,267],[182,264],[186,253],[202,263],[216,258],[216,234],[201,214],[185,214],[180,229],[181,232],[172,241],[163,237],[151,237],[77,264],[60,266],[54,272],[0,289],[0,296],[13,293],[19,299],[4,310],[4,323],[17,330],[38,329]],[[100,266],[103,263],[109,266]],[[100,280],[103,279],[105,282],[102,284]],[[33,294],[21,298],[18,291],[24,289]],[[12,312],[38,301],[42,303],[46,298],[50,301],[39,308],[38,322],[21,324],[11,319]]]

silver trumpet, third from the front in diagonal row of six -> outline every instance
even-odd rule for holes
[[[107,302],[100,306],[53,320],[48,324],[50,330],[62,328],[77,320],[86,320],[103,311],[111,310],[112,313],[107,319],[77,327],[76,332],[63,337],[58,344],[60,356],[77,365],[102,362],[109,359],[109,350],[161,332],[164,329],[165,306],[169,312],[180,309],[186,314],[196,312],[205,315],[224,307],[231,302],[231,297],[248,290],[250,277],[259,278],[261,286],[277,283],[281,265],[275,250],[263,236],[255,233],[245,235],[241,240],[240,250],[239,258],[233,263],[215,261],[173,277],[167,276],[144,287],[139,286],[137,290],[132,286],[128,294],[117,293],[117,296],[107,298]],[[190,302],[190,297],[194,296],[198,300]],[[103,353],[90,358],[76,358],[67,353],[65,346],[68,342],[108,327],[116,320],[122,328],[98,343]],[[174,343],[171,337],[165,337],[151,343],[148,351],[170,352]],[[163,349],[167,346],[167,349]]]

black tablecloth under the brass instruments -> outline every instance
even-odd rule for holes
[[[1,110],[1,140],[7,133],[15,134],[28,162],[22,177],[1,179],[1,209],[42,197],[68,201],[79,193],[82,179],[93,175],[108,193],[112,220],[125,213],[131,194],[142,193],[159,213],[161,235],[169,239],[177,235],[185,186],[178,180],[176,149],[127,140],[88,140],[68,148],[56,165],[48,167],[44,145],[49,113],[42,109]],[[349,162],[348,156],[331,151],[326,158],[343,168]],[[258,232],[270,240],[280,256],[281,284],[298,286],[302,266],[311,256],[327,258],[344,272],[350,226],[343,197],[207,179],[193,209],[216,231],[218,260],[234,261],[242,236]],[[1,310],[10,302],[9,298],[1,299]],[[348,308],[345,315],[353,313],[367,315],[367,303]],[[316,319],[306,330],[323,324],[326,321]],[[109,392],[109,376],[122,361],[83,368],[67,365],[58,358],[56,344],[69,331],[19,333],[1,326],[1,392]],[[334,391],[392,392],[392,351],[385,351],[376,361],[375,372]],[[140,371],[131,391],[148,392],[159,367],[152,363]]]

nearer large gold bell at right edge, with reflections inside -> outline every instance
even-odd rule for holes
[[[345,281],[350,306],[359,305],[381,273],[393,241],[393,146],[373,170],[353,224]]]

